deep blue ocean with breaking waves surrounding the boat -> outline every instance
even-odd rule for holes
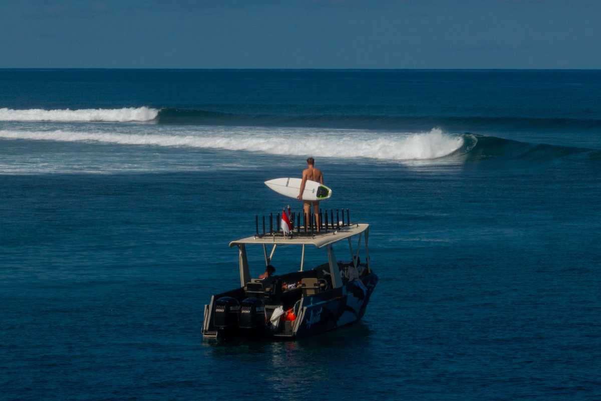
[[[307,156],[364,319],[203,340]],[[601,71],[0,70],[0,398],[599,400],[600,210]]]

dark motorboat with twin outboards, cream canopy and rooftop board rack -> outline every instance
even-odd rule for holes
[[[289,209],[288,209],[289,210]],[[282,216],[284,215],[282,210]],[[321,214],[321,213],[320,213]],[[364,314],[376,284],[377,275],[372,271],[369,257],[369,224],[351,223],[347,209],[347,220],[334,223],[334,213],[328,222],[315,216],[291,216],[291,232],[282,233],[279,213],[276,217],[277,230],[273,230],[273,214],[269,217],[269,232],[258,230],[253,236],[230,242],[230,248],[238,251],[240,286],[223,293],[212,295],[204,305],[203,338],[225,339],[231,337],[265,338],[270,340],[292,340],[322,334],[360,320]],[[288,216],[287,215],[287,216]],[[309,221],[309,223],[307,223]],[[282,225],[284,223],[282,222]],[[319,225],[319,231],[317,230]],[[353,240],[356,240],[353,249]],[[362,245],[363,242],[363,245]],[[350,259],[338,261],[334,245],[348,244]],[[289,272],[252,278],[249,274],[247,250],[262,248],[265,266],[270,266],[276,249],[295,246],[300,251],[300,263]],[[314,247],[323,252],[325,263],[305,269],[305,248]],[[270,248],[270,249],[269,249]],[[338,246],[337,246],[338,248]],[[364,251],[364,254],[361,253]],[[364,262],[361,262],[363,257]],[[262,263],[261,263],[262,265]],[[299,269],[300,266],[300,269]],[[284,270],[278,266],[276,273]]]

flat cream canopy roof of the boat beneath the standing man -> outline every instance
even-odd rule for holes
[[[316,248],[322,248],[323,246],[330,245],[334,242],[338,242],[343,239],[350,238],[352,236],[363,233],[368,230],[370,227],[369,224],[364,223],[355,223],[350,225],[345,225],[344,227],[340,227],[339,230],[332,231],[331,229],[328,232],[323,233],[313,233],[313,235],[296,235],[296,233],[292,234],[292,236],[284,236],[281,233],[275,234],[266,234],[264,236],[251,236],[238,240],[234,240],[230,242],[230,247],[234,245],[267,245],[267,244],[276,244],[276,245],[314,245]],[[365,233],[367,236],[367,233]]]

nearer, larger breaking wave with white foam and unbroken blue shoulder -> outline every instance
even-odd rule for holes
[[[0,138],[33,141],[90,142],[120,145],[150,145],[258,152],[279,156],[319,158],[368,158],[387,161],[432,161],[441,163],[497,161],[541,164],[582,155],[601,161],[601,151],[572,146],[534,144],[496,136],[465,133],[451,135],[435,128],[422,133],[317,131],[306,129],[260,130],[237,127],[195,132],[73,132],[68,130],[0,130]]]

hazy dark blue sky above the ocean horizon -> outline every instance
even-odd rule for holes
[[[0,68],[599,69],[601,1],[0,0]]]

